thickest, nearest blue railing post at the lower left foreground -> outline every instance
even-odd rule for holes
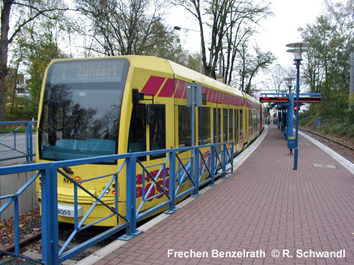
[[[49,163],[42,183],[42,261],[59,264],[57,167]]]

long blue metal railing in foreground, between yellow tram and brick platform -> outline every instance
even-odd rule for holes
[[[219,149],[219,151],[217,151]],[[41,182],[41,204],[42,204],[42,261],[35,261],[40,264],[60,264],[63,261],[74,257],[88,247],[96,245],[98,242],[104,240],[110,235],[125,229],[125,235],[120,237],[122,240],[129,240],[135,235],[139,235],[137,230],[137,220],[141,220],[147,216],[150,216],[157,211],[161,211],[163,208],[168,208],[166,213],[173,213],[176,211],[176,201],[183,198],[188,194],[198,196],[199,189],[202,185],[210,183],[214,184],[216,177],[225,177],[226,172],[233,171],[233,150],[234,144],[230,143],[217,143],[207,146],[194,146],[188,148],[176,148],[169,150],[150,151],[142,153],[127,153],[121,155],[107,155],[98,158],[84,158],[78,160],[65,160],[52,163],[37,163],[28,165],[13,165],[7,167],[0,167],[1,175],[14,174],[19,172],[37,172],[21,189],[15,194],[8,194],[6,196],[0,196],[0,200],[6,200],[3,206],[0,208],[2,213],[6,208],[13,205],[15,212],[15,251],[5,252],[0,249],[0,252],[11,255],[0,264],[22,257],[30,261],[35,261],[28,257],[23,257],[20,253],[19,244],[19,220],[18,220],[18,201],[19,196],[30,187],[35,180],[40,177]],[[190,152],[190,156],[185,158],[187,152]],[[139,161],[139,157],[146,155],[161,155],[166,154],[164,163],[154,165],[159,167],[156,174],[152,175],[149,172],[149,167],[144,167]],[[183,154],[184,158],[181,158]],[[86,165],[91,163],[102,163],[104,161],[118,160],[118,170],[112,172],[110,175],[103,175],[93,177],[91,179],[75,181],[68,175],[66,175],[61,169],[62,167],[72,167],[75,165]],[[143,179],[149,177],[152,179],[152,183],[149,188],[144,187],[144,181],[142,182],[142,202],[137,205],[137,167],[142,167]],[[167,170],[169,168],[169,170]],[[124,172],[125,170],[125,172]],[[122,174],[125,173],[125,174]],[[121,174],[120,174],[121,173]],[[105,202],[103,198],[105,192],[108,190],[111,184],[115,183],[115,187],[118,187],[118,175],[123,177],[125,175],[126,182],[126,208],[124,213],[118,211],[118,193],[115,194],[114,201],[115,206],[110,206]],[[64,246],[59,249],[58,246],[58,190],[57,190],[57,177],[62,175],[74,184],[74,231],[69,235]],[[204,177],[204,178],[202,178]],[[85,182],[93,181],[95,179],[104,179],[105,187],[99,194],[93,194],[93,192],[85,188]],[[202,179],[205,179],[202,181]],[[169,185],[167,184],[169,183]],[[185,187],[190,185],[190,187]],[[152,189],[156,189],[158,193],[150,195]],[[184,187],[184,189],[183,189]],[[92,205],[89,211],[84,213],[84,216],[79,220],[78,214],[78,194],[84,192],[92,198]],[[144,204],[156,197],[165,196],[165,199],[160,204],[149,208],[146,211],[142,211]],[[105,220],[111,217],[119,217],[121,222],[113,228],[102,232],[100,235],[81,243],[80,245],[65,251],[69,242],[75,237],[75,235],[86,228],[96,225],[101,220],[95,221],[90,224],[84,225],[85,220],[88,220],[90,214],[96,206],[103,206],[109,210],[108,216],[103,216],[101,220]]]

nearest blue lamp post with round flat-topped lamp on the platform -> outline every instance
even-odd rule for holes
[[[295,131],[295,158],[294,158],[294,170],[297,170],[297,157],[299,150],[297,148],[299,143],[299,79],[300,79],[300,64],[302,61],[302,53],[308,52],[309,47],[308,42],[295,42],[286,45],[286,47],[290,47],[292,49],[288,49],[287,52],[292,52],[295,54],[295,65],[297,69],[297,76],[296,76],[296,131]]]

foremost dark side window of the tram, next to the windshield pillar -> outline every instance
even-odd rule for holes
[[[145,105],[133,105],[128,140],[129,153],[147,151],[145,117]]]

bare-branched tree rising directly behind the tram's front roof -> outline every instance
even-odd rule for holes
[[[89,18],[82,34],[91,37],[90,49],[105,56],[147,54],[166,40],[160,0],[76,0],[76,7]]]

